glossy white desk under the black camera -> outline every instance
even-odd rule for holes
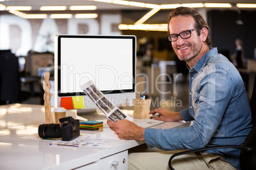
[[[30,138],[37,136],[38,126],[43,123],[43,105],[0,106],[0,169],[127,169],[127,150],[144,143],[126,140],[111,148],[53,147],[50,145],[52,141]],[[183,126],[183,123],[167,122],[157,128],[179,125]],[[95,133],[97,138],[110,136],[118,140],[106,124],[103,131],[82,133]],[[111,166],[113,161],[117,161],[118,166]]]

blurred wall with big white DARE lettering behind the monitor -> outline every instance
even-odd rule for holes
[[[120,35],[119,11],[97,12],[90,19],[24,19],[16,15],[0,14],[0,49],[12,49],[16,55],[27,55],[29,50],[38,52],[54,50],[57,34]]]

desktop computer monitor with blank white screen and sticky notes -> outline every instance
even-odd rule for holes
[[[82,111],[96,110],[80,89],[90,80],[114,105],[132,105],[136,96],[135,36],[58,35],[54,62],[55,107],[65,107],[65,98],[83,96]]]

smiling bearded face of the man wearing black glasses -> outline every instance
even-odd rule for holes
[[[170,34],[180,34],[185,30],[192,30],[194,28],[194,18],[192,16],[175,16],[171,18],[169,23]],[[201,36],[197,36],[197,30],[191,32],[191,37],[182,39],[178,36],[178,40],[171,42],[173,49],[182,61],[190,61],[195,58],[202,49],[203,42]]]

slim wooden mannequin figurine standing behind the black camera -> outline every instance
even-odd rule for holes
[[[52,114],[51,114],[51,96],[52,93],[50,89],[52,88],[52,84],[50,83],[50,73],[45,72],[45,81],[43,81],[43,89],[45,90],[45,94],[43,95],[43,100],[45,101],[45,123],[49,124],[52,123]]]

